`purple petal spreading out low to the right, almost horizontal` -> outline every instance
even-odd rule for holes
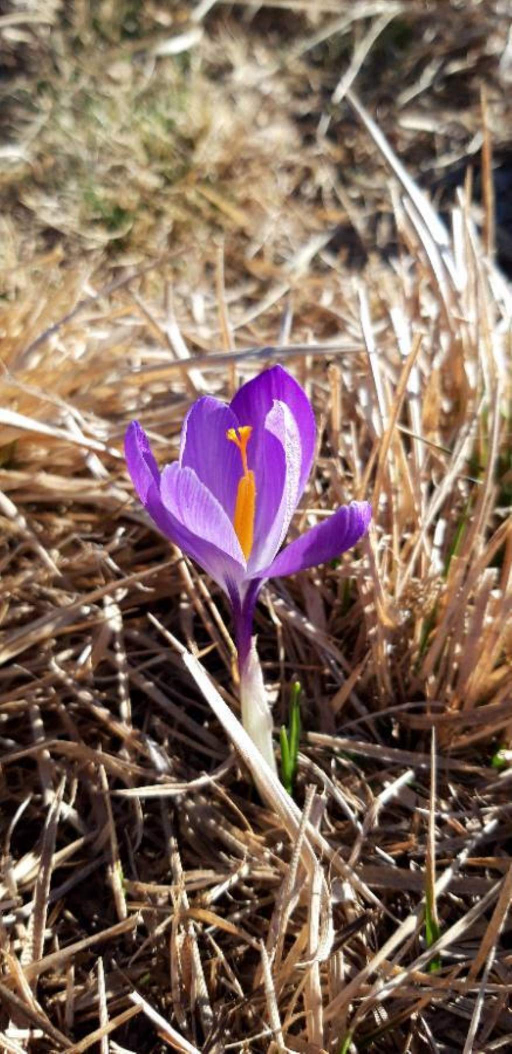
[[[264,578],[295,574],[334,560],[362,538],[371,519],[372,508],[368,502],[343,505],[329,520],[291,542],[265,569]]]

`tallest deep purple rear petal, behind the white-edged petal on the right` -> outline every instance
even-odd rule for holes
[[[302,493],[313,464],[316,443],[316,424],[311,403],[297,382],[282,369],[273,366],[254,380],[248,380],[231,402],[231,409],[240,425],[261,428],[275,402],[284,403],[295,418],[300,443],[300,471],[298,497]],[[253,443],[253,436],[251,437]],[[251,452],[251,447],[249,448]],[[254,444],[253,450],[254,453]],[[297,497],[297,500],[298,500]]]

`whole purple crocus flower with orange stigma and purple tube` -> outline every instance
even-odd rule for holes
[[[210,395],[194,403],[179,460],[161,473],[138,422],[126,431],[126,464],[142,505],[230,598],[240,672],[263,582],[338,557],[371,520],[368,502],[351,502],[281,549],[315,443],[310,401],[281,366],[243,385],[229,406]]]

